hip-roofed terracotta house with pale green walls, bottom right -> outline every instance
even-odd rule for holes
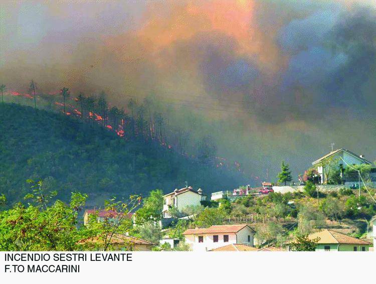
[[[365,240],[328,229],[308,235],[310,240],[315,238],[319,238],[315,251],[368,251],[372,245]],[[287,242],[287,250],[291,250],[290,244],[293,242],[295,240]]]

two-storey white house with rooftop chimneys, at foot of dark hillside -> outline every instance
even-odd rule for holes
[[[201,205],[201,201],[206,200],[206,195],[202,189],[194,190],[192,186],[181,189],[175,189],[173,192],[163,195],[163,218],[171,218],[168,210],[171,207],[181,211],[187,206]]]

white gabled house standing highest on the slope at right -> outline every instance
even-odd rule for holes
[[[360,164],[368,164],[371,165],[372,163],[364,159],[364,155],[356,155],[346,149],[337,149],[334,150],[325,156],[317,159],[316,161],[312,162],[312,165],[317,167],[317,172],[320,175],[321,183],[324,183],[324,172],[327,172],[326,167],[328,165],[324,165],[323,169],[323,162],[330,161],[330,163],[334,163],[335,165],[331,164],[332,167],[336,167],[340,170],[347,168],[347,165],[360,165]],[[326,163],[326,164],[327,164]],[[342,172],[341,172],[342,174]]]

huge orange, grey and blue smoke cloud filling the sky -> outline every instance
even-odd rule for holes
[[[330,143],[376,158],[373,1],[5,2],[0,81],[154,95],[168,120],[274,180]],[[190,123],[195,116],[199,125]],[[196,123],[195,122],[195,123]]]

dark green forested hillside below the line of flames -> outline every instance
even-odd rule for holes
[[[61,199],[90,193],[91,205],[110,195],[169,192],[185,181],[204,193],[244,182],[229,170],[77,117],[18,104],[0,105],[0,113],[0,193],[11,201],[30,191],[27,179],[44,180]]]

